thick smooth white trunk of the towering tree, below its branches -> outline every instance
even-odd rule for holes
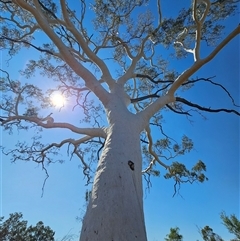
[[[123,112],[110,114],[115,124],[98,163],[80,241],[147,240],[139,128],[135,116]]]

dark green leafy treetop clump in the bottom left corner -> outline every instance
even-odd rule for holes
[[[21,213],[10,214],[8,219],[0,218],[1,241],[54,241],[55,232],[39,221],[35,226],[27,226]]]

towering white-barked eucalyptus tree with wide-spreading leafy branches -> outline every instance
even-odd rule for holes
[[[159,175],[157,165],[166,171],[166,179],[174,179],[175,191],[181,183],[206,180],[202,161],[191,169],[175,161],[193,148],[192,140],[183,136],[174,141],[161,123],[165,111],[186,116],[194,110],[240,115],[223,85],[194,76],[240,33],[236,24],[226,37],[221,35],[222,20],[236,13],[238,2],[194,0],[177,15],[168,16],[160,0],[0,1],[0,44],[7,51],[6,61],[23,49],[34,49],[38,54],[21,70],[23,77],[30,82],[36,72],[56,81],[46,92],[42,91],[46,82],[36,86],[1,70],[2,128],[36,131],[32,143],[19,141],[3,152],[13,161],[39,163],[48,175],[46,164],[67,146],[68,153],[81,161],[88,182],[96,161],[81,241],[145,241],[142,175]],[[209,45],[214,47],[206,54]],[[160,54],[163,49],[178,62],[192,56],[192,64],[180,73],[169,69]],[[179,90],[197,89],[202,81],[221,88],[233,107],[212,109],[179,95]],[[74,101],[77,124],[67,116],[59,122],[50,114],[50,97],[56,90]],[[84,118],[78,117],[78,108]],[[49,109],[48,116],[43,116],[44,109]],[[153,127],[160,138],[153,137]],[[66,129],[78,137],[44,143],[40,137],[45,129]]]

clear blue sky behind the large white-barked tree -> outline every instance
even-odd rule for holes
[[[176,1],[172,1],[176,2]],[[190,1],[188,1],[190,2]],[[164,5],[164,11],[167,11]],[[229,33],[239,22],[239,16],[228,21],[225,33]],[[26,50],[24,50],[26,51]],[[6,65],[6,53],[2,52],[2,68],[8,71],[14,78],[22,77],[15,70],[24,68],[27,61],[31,59],[32,50],[21,52],[18,61],[12,61]],[[19,61],[20,60],[20,61]],[[183,61],[184,62],[184,61]],[[223,49],[220,54],[201,71],[198,77],[215,76],[214,81],[224,84],[239,103],[239,37],[235,38]],[[172,64],[172,67],[179,72],[184,71],[185,64],[179,61]],[[43,80],[36,75],[34,81],[41,83],[42,88],[49,86],[48,80]],[[51,83],[52,84],[52,83]],[[208,88],[202,84],[200,88],[189,92],[181,93],[180,96],[198,101],[205,107],[231,107],[231,101],[226,94]],[[55,111],[56,112],[56,111]],[[48,114],[46,112],[45,114]],[[80,114],[81,113],[77,113]],[[239,146],[240,127],[239,117],[233,114],[204,113],[206,120],[196,114],[190,122],[185,116],[168,114],[165,119],[164,128],[169,135],[181,137],[186,134],[194,141],[194,150],[178,161],[193,165],[201,159],[207,165],[208,182],[203,184],[186,184],[181,186],[180,194],[173,195],[173,181],[160,178],[152,178],[152,188],[144,192],[145,219],[148,234],[148,241],[162,241],[171,227],[178,226],[184,241],[201,240],[198,228],[209,225],[213,230],[222,236],[224,240],[232,237],[221,224],[220,213],[225,211],[227,215],[239,213]],[[76,122],[76,113],[67,109],[55,113],[58,121]],[[29,140],[31,132],[23,134],[14,132],[8,135],[0,131],[1,145],[12,147],[16,140]],[[154,133],[159,135],[159,133]],[[72,137],[73,134],[67,131],[47,130],[45,138],[48,141],[61,137]],[[81,222],[76,217],[83,217],[85,209],[86,187],[82,169],[79,168],[79,160],[74,157],[69,161],[65,150],[62,150],[62,158],[66,159],[63,164],[52,164],[48,167],[50,177],[47,180],[42,194],[42,185],[45,178],[44,171],[40,166],[31,162],[11,163],[8,156],[1,155],[1,187],[0,187],[0,215],[8,217],[9,213],[22,212],[29,224],[36,224],[43,221],[56,231],[56,238],[61,239],[70,233],[78,234]],[[146,186],[146,185],[145,185]],[[144,189],[145,189],[144,186]]]

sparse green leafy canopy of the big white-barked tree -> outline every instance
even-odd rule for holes
[[[166,55],[174,57],[171,59],[171,65],[176,63],[178,66],[178,59],[200,50],[202,53],[206,46],[218,44],[225,25],[223,20],[236,14],[239,3],[234,0],[212,0],[209,4],[206,4],[207,1],[196,1],[194,7],[194,2],[188,7],[185,3],[176,4],[180,8],[169,16],[168,11],[163,11],[161,5],[165,3],[161,1],[156,1],[153,7],[149,0],[81,0],[75,1],[74,4],[73,1],[61,4],[60,1],[41,0],[25,1],[23,7],[15,1],[0,0],[0,10],[4,13],[0,17],[0,46],[8,53],[9,63],[23,48],[31,48],[38,53],[21,69],[21,81],[11,79],[7,71],[0,69],[3,73],[0,78],[0,89],[3,92],[0,100],[3,129],[9,133],[16,129],[34,130],[39,123],[31,117],[43,116],[46,108],[51,112],[53,105],[50,96],[54,91],[64,94],[69,103],[67,108],[74,110],[79,118],[78,124],[104,128],[106,109],[101,101],[97,102],[98,98],[95,98],[94,90],[98,88],[93,88],[92,84],[90,88],[89,79],[84,77],[85,74],[82,76],[76,71],[79,68],[73,63],[78,63],[79,67],[96,76],[96,83],[101,83],[106,91],[111,89],[110,86],[107,87],[107,79],[120,83],[126,78],[120,86],[124,86],[124,91],[130,97],[129,111],[134,114],[143,111],[159,97],[166,95],[173,83],[184,73],[170,69],[169,58],[165,53],[164,56],[159,54],[165,52],[162,51],[163,48]],[[47,19],[51,34],[39,25],[36,15],[29,11],[35,8]],[[67,17],[64,17],[64,12],[67,12]],[[193,17],[194,13],[196,19]],[[205,13],[206,18],[198,23]],[[186,34],[183,38],[181,34],[184,31]],[[46,38],[46,35],[49,38]],[[63,53],[66,53],[63,49],[71,52],[71,61],[66,61],[68,58],[63,56]],[[182,61],[184,63],[184,60]],[[56,81],[57,84],[45,91],[42,89],[42,82],[37,83],[41,85],[37,87],[22,81],[24,78],[31,80],[36,74],[40,74],[43,79]],[[196,88],[197,83],[205,81],[220,87],[232,99],[222,85],[209,78],[196,79],[193,75],[194,73],[186,77],[180,86],[181,90]],[[232,102],[234,103],[233,99]],[[202,115],[199,110],[210,111],[209,108],[202,108],[177,96],[174,103],[169,103],[161,111],[152,114],[149,127],[151,131],[154,130],[152,133],[159,133],[158,139],[151,140],[150,133],[141,133],[144,168],[147,174],[159,176],[160,171],[156,167],[158,163],[166,170],[165,178],[173,179],[175,184],[207,180],[204,174],[206,167],[202,161],[189,169],[176,159],[193,149],[193,141],[186,135],[175,141],[163,130],[166,112],[171,111],[188,118],[196,111]],[[236,111],[235,114],[240,115]],[[43,133],[45,127],[43,125],[43,129],[38,128],[35,133]],[[70,126],[65,125],[64,128],[68,129]],[[13,161],[31,159],[42,163],[44,167],[45,162],[54,162],[60,148],[69,145],[70,158],[77,155],[81,159],[83,172],[88,176],[89,183],[93,176],[90,175],[91,170],[94,170],[90,166],[99,159],[104,138],[92,136],[91,141],[83,143],[66,139],[54,145],[44,143],[43,139],[44,134],[39,134],[32,138],[30,144],[17,143],[16,148],[11,151],[2,148],[3,153],[11,156]],[[170,163],[170,160],[173,162]]]

